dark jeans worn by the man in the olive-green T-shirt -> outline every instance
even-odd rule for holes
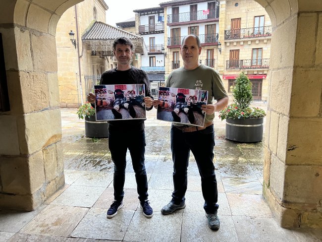
[[[201,188],[205,199],[204,209],[206,213],[215,213],[218,210],[218,191],[215,176],[214,159],[214,125],[194,132],[182,132],[171,127],[171,151],[173,160],[173,186],[172,201],[180,204],[185,201],[187,190],[187,170],[190,150],[195,156],[199,174],[201,176]]]

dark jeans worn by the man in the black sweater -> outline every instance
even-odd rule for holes
[[[124,197],[127,149],[129,149],[132,159],[139,199],[144,201],[148,198],[148,179],[144,166],[145,145],[144,130],[133,131],[109,128],[108,147],[114,163],[113,186],[116,201],[121,201]]]

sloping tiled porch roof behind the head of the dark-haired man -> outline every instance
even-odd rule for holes
[[[82,36],[82,40],[114,40],[118,37],[127,37],[131,40],[142,39],[141,36],[131,34],[109,24],[96,21],[93,26]]]

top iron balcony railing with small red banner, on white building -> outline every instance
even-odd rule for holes
[[[179,23],[213,18],[219,18],[219,8],[209,9],[209,14],[205,13],[204,10],[169,14],[167,15],[167,22]]]

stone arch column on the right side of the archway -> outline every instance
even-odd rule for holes
[[[322,3],[256,1],[273,26],[263,194],[282,227],[322,229]]]

